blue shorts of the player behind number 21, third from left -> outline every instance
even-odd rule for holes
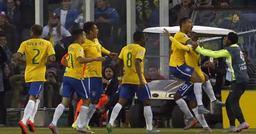
[[[91,100],[99,100],[102,97],[103,87],[100,77],[85,78],[85,88],[90,91]]]

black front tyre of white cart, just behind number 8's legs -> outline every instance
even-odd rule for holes
[[[130,109],[130,125],[133,128],[143,128],[146,126],[145,117],[143,114],[143,106],[135,104]]]

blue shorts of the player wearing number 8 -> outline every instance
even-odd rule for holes
[[[136,84],[122,84],[119,98],[133,98],[135,93],[138,96],[138,100],[148,100],[151,98],[148,84],[144,84],[143,89],[139,89]]]

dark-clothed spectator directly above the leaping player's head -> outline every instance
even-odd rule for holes
[[[183,17],[191,17],[194,5],[191,4],[191,0],[181,0],[181,3],[175,5],[169,11],[169,26],[179,26],[179,20]]]

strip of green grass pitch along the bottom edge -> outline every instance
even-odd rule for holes
[[[91,128],[95,134],[107,134],[105,127],[92,127]],[[75,132],[70,127],[60,127],[58,128],[60,134],[79,134]],[[193,134],[200,129],[177,129],[177,128],[159,128],[158,130],[162,131],[162,134]],[[212,129],[211,134],[220,134],[224,129]],[[27,128],[28,131],[28,128]],[[145,134],[145,128],[114,128],[113,134]],[[247,129],[243,130],[241,133],[244,134],[256,134],[256,129]],[[5,127],[0,128],[0,134],[21,134],[20,127]],[[29,132],[28,134],[52,134],[52,131],[46,127],[36,127],[35,132]]]

